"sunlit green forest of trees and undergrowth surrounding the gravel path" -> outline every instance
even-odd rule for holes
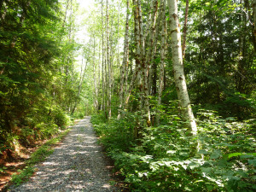
[[[255,98],[256,0],[0,1],[0,174],[90,115],[124,190],[253,192]]]

